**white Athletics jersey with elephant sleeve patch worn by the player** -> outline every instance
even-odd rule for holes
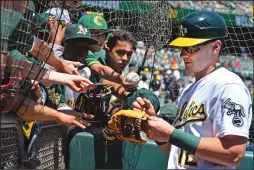
[[[251,96],[234,73],[219,68],[188,85],[179,101],[174,127],[198,137],[238,135],[248,138]],[[171,145],[168,169],[235,168],[208,162]]]

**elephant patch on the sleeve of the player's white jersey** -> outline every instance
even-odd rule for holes
[[[230,101],[231,99],[228,98],[225,102],[223,102],[221,105],[221,110],[228,116],[233,115],[232,123],[234,126],[242,127],[244,124],[242,117],[245,117],[243,106]]]

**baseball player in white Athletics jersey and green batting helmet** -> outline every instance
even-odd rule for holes
[[[180,28],[170,45],[182,48],[185,69],[196,81],[184,89],[173,125],[151,116],[147,135],[169,152],[168,169],[235,168],[245,154],[252,102],[239,76],[219,63],[225,22],[214,12],[198,11],[184,17]],[[154,115],[146,99],[133,105]]]

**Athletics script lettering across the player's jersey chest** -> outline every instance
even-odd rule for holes
[[[187,107],[188,102],[184,102],[182,108],[180,108],[177,122],[179,124],[176,126],[176,128],[181,128],[184,125],[192,122],[203,122],[207,118],[207,113],[205,112],[205,104],[201,103],[200,105],[197,105],[195,101],[192,101],[192,103]]]

